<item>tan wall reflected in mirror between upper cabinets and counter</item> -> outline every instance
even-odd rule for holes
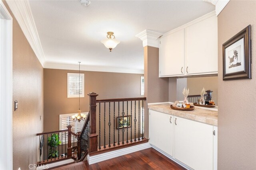
[[[200,94],[203,87],[205,90],[213,91],[212,100],[214,100],[214,102],[218,105],[218,76],[187,78],[187,88],[189,88],[189,95]]]

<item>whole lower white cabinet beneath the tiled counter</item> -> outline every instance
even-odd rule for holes
[[[216,170],[216,126],[159,111],[149,113],[150,144],[194,170]]]

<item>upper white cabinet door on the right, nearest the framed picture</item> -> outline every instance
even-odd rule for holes
[[[186,28],[185,71],[186,74],[218,72],[218,21],[216,16]]]

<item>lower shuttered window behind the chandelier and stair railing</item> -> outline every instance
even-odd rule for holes
[[[71,131],[74,132],[74,133],[78,133],[80,131],[82,131],[82,128],[84,126],[84,122],[85,121],[76,121],[74,122],[73,119],[72,119],[72,115],[74,115],[76,113],[72,113],[72,114],[64,114],[64,115],[60,115],[60,130],[64,130],[64,129],[68,129],[67,126],[68,125],[71,125],[72,128],[71,128]],[[82,113],[82,114],[86,114],[88,115],[88,112],[85,112],[85,113]],[[65,134],[63,133],[63,143],[65,143]],[[62,139],[61,135],[60,135],[60,140]],[[66,133],[66,141],[68,141],[68,133]],[[71,135],[71,141],[75,141],[76,142],[76,139],[74,139],[74,136]]]

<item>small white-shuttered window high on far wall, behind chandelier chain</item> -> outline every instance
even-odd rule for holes
[[[68,73],[68,98],[84,97],[84,74],[80,73],[80,84],[78,73]]]

